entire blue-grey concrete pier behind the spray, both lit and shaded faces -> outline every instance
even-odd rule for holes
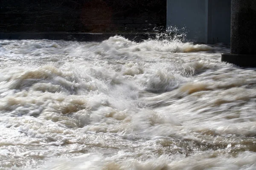
[[[230,0],[167,0],[167,26],[185,28],[187,39],[230,44]]]

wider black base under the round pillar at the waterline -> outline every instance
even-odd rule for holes
[[[256,55],[221,54],[221,61],[229,62],[240,67],[256,67]]]

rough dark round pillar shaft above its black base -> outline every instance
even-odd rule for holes
[[[231,11],[231,53],[256,55],[256,1],[232,0]]]

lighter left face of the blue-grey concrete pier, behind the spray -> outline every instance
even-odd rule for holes
[[[167,26],[187,30],[190,41],[206,42],[207,0],[167,0]]]

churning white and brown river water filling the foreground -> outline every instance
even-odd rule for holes
[[[0,169],[256,169],[256,70],[228,51],[0,40]]]

